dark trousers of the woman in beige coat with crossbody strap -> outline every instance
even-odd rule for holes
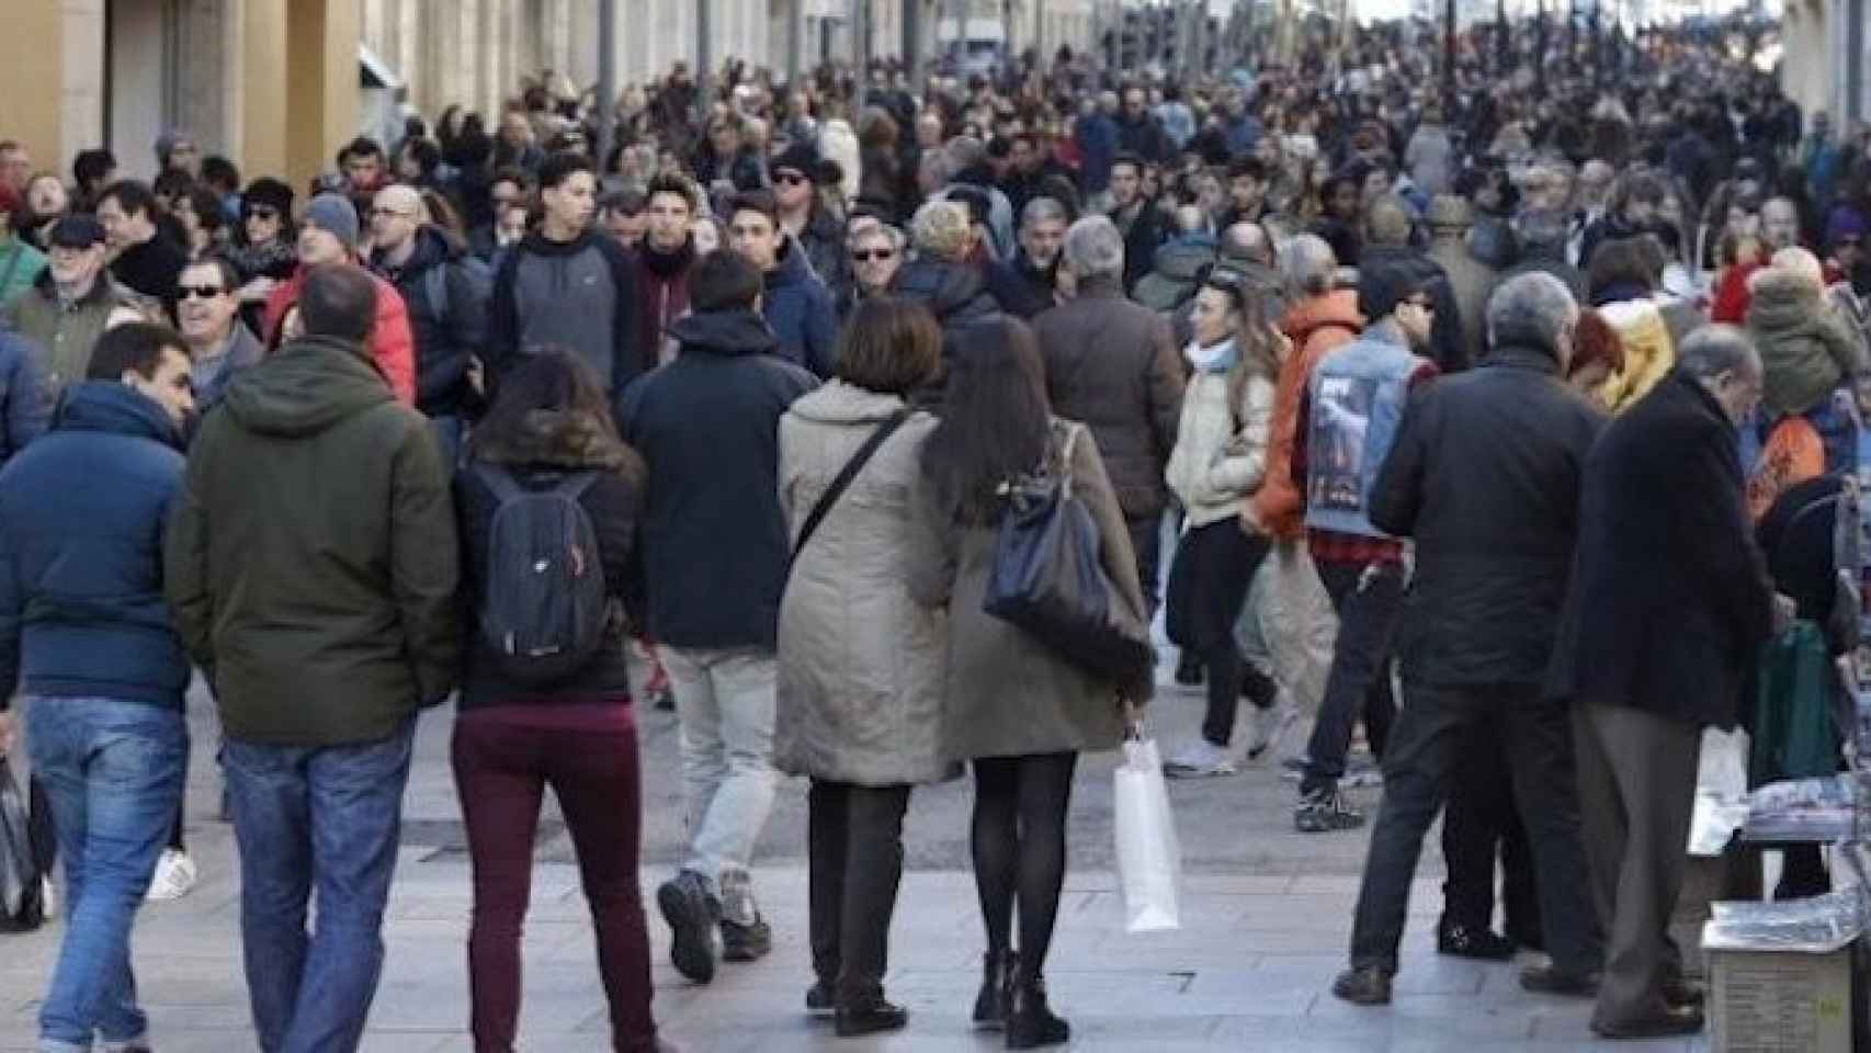
[[[814,778],[806,808],[812,971],[840,1006],[863,1006],[883,995],[909,787]]]

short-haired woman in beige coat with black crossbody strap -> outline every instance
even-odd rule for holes
[[[943,778],[945,615],[909,597],[909,490],[928,413],[909,413],[801,544],[812,509],[859,447],[941,363],[919,305],[864,301],[838,346],[836,378],[780,419],[780,507],[795,561],[780,600],[775,763],[808,797],[812,969],[806,1010],[842,1036],[896,1031],[883,999],[891,913],[904,872],[909,787]]]

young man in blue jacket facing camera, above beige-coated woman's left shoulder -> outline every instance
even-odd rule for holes
[[[780,340],[780,353],[819,378],[831,376],[838,353],[838,307],[812,271],[805,247],[780,226],[773,191],[733,196],[728,247],[763,275],[763,314]]]

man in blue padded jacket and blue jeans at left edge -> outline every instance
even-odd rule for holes
[[[65,939],[41,1049],[146,1049],[129,930],[189,765],[189,660],[163,599],[163,524],[193,411],[163,325],[107,331],[52,430],[0,471],[0,683],[21,685],[32,767],[65,858]],[[82,479],[84,486],[73,486]],[[0,698],[0,752],[15,716]]]

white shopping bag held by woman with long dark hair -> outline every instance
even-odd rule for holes
[[[1175,838],[1169,787],[1156,743],[1124,739],[1115,787],[1117,881],[1124,896],[1124,931],[1182,928],[1177,883],[1182,847]]]

